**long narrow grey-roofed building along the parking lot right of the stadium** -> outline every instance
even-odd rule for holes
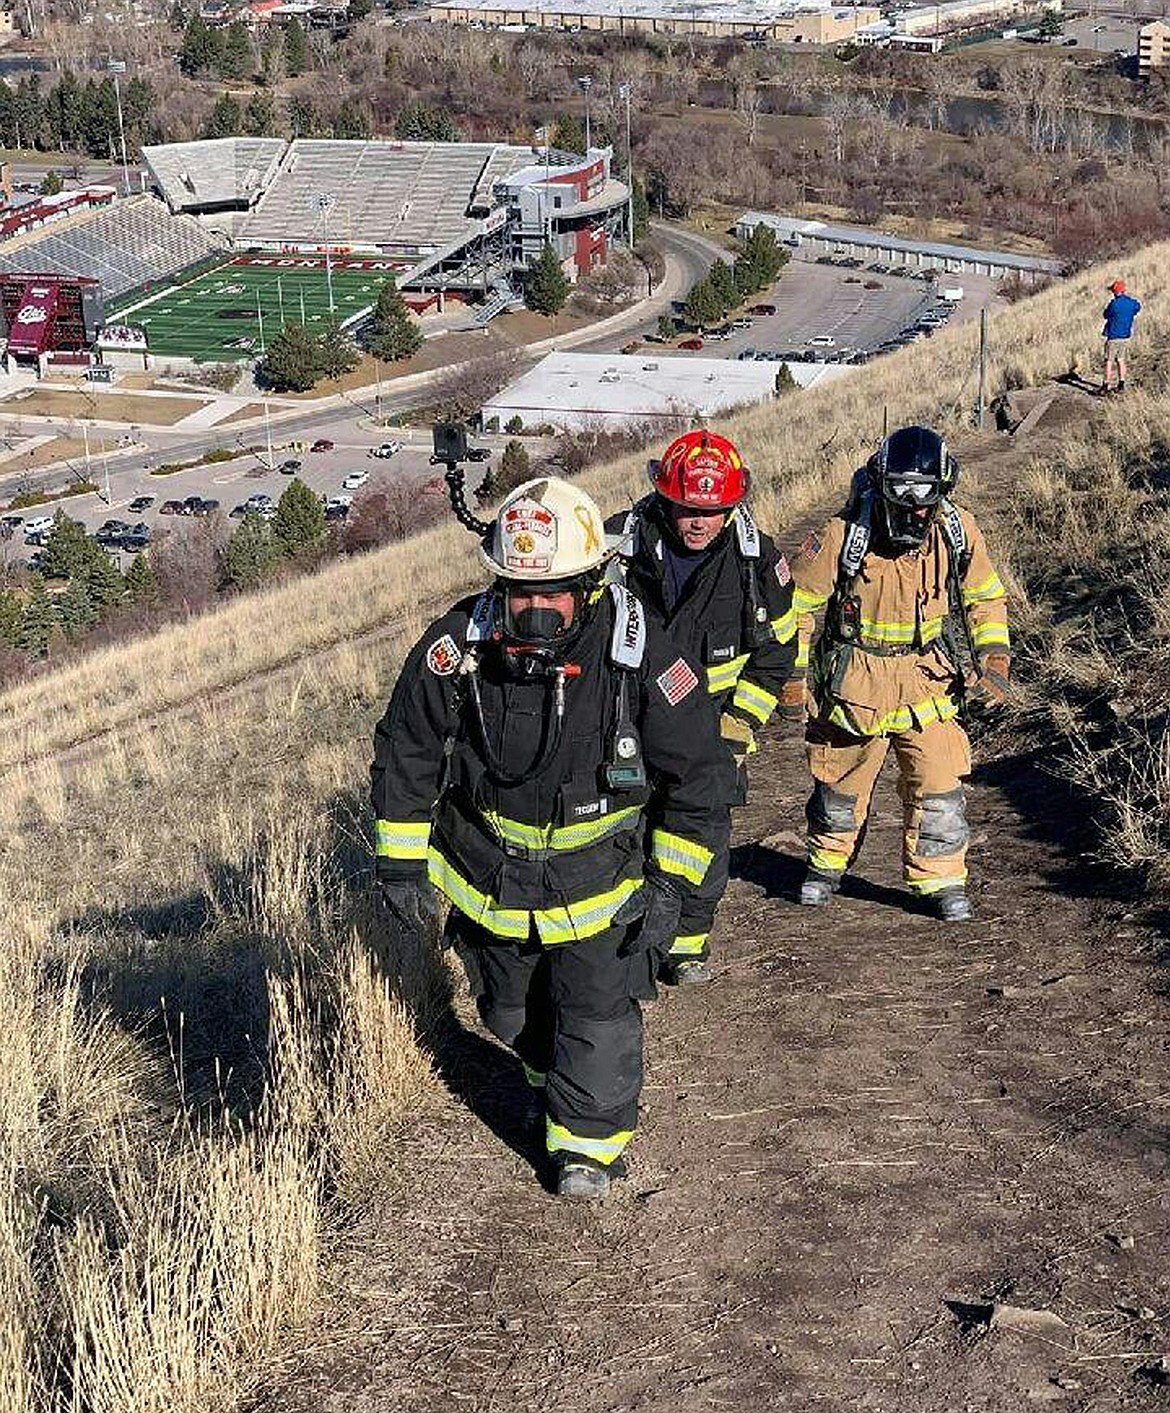
[[[762,211],[745,211],[735,223],[740,240],[756,229],[770,226],[776,239],[790,249],[798,249],[805,259],[818,256],[861,256],[882,260],[890,266],[910,266],[916,270],[938,270],[947,274],[985,274],[995,280],[1019,276],[1023,280],[1050,280],[1061,273],[1057,260],[1044,256],[1020,256],[1010,250],[979,250],[975,246],[955,246],[944,242],[909,240],[885,230],[863,230],[859,226],[837,226],[824,220],[800,220],[793,216],[773,216]]]

